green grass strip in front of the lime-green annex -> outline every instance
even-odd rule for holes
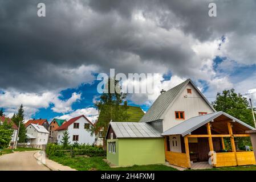
[[[92,158],[70,158],[70,157],[51,157],[51,160],[63,164],[64,166],[70,166],[71,168],[79,171],[99,170],[99,171],[176,171],[172,167],[164,165],[147,165],[147,166],[132,166],[132,167],[119,167],[111,168],[107,163],[103,161],[104,157],[92,157]]]

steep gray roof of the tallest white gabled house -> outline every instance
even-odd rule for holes
[[[161,118],[162,114],[165,112],[166,109],[168,109],[168,106],[171,105],[172,102],[180,95],[180,93],[185,89],[186,85],[188,85],[189,82],[194,86],[197,92],[200,93],[202,98],[204,98],[206,103],[213,109],[213,111],[216,111],[210,104],[210,102],[205,98],[205,96],[200,92],[200,90],[198,90],[197,86],[194,85],[193,81],[188,79],[181,84],[174,86],[167,92],[162,93],[152,104],[147,113],[145,113],[145,115],[140,119],[140,122],[151,122],[163,119]]]

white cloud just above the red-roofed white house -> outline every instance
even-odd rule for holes
[[[92,123],[95,123],[97,120],[97,117],[99,116],[99,113],[95,107],[87,107],[84,109],[77,109],[72,113],[65,114],[65,115],[62,115],[59,117],[55,117],[55,118],[68,120],[71,118],[78,117],[79,115],[85,115]]]

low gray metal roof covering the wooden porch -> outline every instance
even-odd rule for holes
[[[185,135],[188,135],[192,131],[198,129],[199,127],[205,125],[206,123],[212,121],[213,119],[219,117],[220,115],[225,115],[226,117],[233,119],[235,122],[240,123],[241,125],[247,127],[250,130],[255,130],[254,127],[247,125],[246,123],[240,121],[239,119],[234,118],[233,116],[223,111],[218,111],[215,113],[200,115],[197,117],[187,119],[186,121],[170,128],[169,130],[166,130],[161,135],[182,135],[184,137]]]

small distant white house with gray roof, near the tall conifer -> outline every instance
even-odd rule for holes
[[[26,129],[27,136],[29,136],[30,145],[32,147],[42,148],[43,145],[47,144],[49,132],[44,126],[30,124],[26,127]]]

